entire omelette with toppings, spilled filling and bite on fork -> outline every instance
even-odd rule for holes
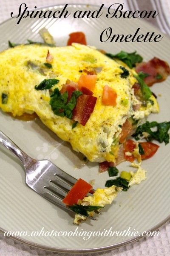
[[[0,53],[0,108],[14,117],[36,113],[75,151],[100,163],[100,172],[113,177],[106,181],[107,188],[91,196],[86,195],[92,186],[79,179],[65,197],[79,224],[111,204],[119,191],[146,179],[141,161],[159,148],[151,140],[169,142],[170,122],[146,118],[159,112],[148,86],[165,80],[170,68],[156,57],[145,63],[136,52],[112,55],[86,46],[82,32],[72,33],[66,47],[55,47],[45,29],[41,35],[43,44],[9,41],[11,48]],[[136,141],[128,139],[131,135]],[[137,171],[119,175],[115,166],[124,160]]]

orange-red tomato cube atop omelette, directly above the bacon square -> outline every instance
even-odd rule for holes
[[[96,85],[96,79],[97,75],[84,75],[82,74],[79,77],[78,85],[79,85],[79,90],[81,90],[82,87],[86,87],[89,90],[94,90],[94,87]]]

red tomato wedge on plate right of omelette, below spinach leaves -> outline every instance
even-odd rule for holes
[[[140,142],[140,144],[144,150],[144,154],[141,155],[142,160],[152,157],[159,148],[159,145],[152,142]]]

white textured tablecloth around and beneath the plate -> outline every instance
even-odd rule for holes
[[[62,3],[87,3],[102,4],[102,0],[0,0],[0,22],[10,18],[10,13],[18,13],[21,3],[26,3],[29,9],[34,6],[50,6]],[[108,0],[107,5],[113,3],[125,3],[127,9],[146,9],[150,5],[159,9],[161,15],[154,20],[154,25],[158,26],[162,32],[170,35],[170,0]],[[106,4],[106,2],[105,2]],[[162,11],[160,10],[160,4]],[[166,20],[166,22],[164,21]],[[153,22],[153,20],[152,20]],[[2,35],[1,35],[2,36]],[[115,250],[109,250],[101,253],[90,253],[91,256],[170,256],[170,222],[164,224],[160,229],[160,235],[155,237],[142,238],[132,244],[120,247]],[[0,234],[0,256],[59,256],[61,253],[52,253],[40,250],[26,244],[22,244],[14,239],[4,237]],[[68,254],[62,254],[68,256]],[[71,254],[74,256],[74,254]],[[77,255],[77,254],[76,254]],[[82,255],[82,254],[81,254]]]

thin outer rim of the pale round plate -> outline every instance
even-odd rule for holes
[[[54,4],[54,5],[48,5],[48,6],[40,6],[37,8],[37,10],[40,9],[46,9],[46,8],[51,8],[51,7],[57,7],[57,6],[65,6],[67,3],[62,3],[62,4]],[[79,6],[87,6],[87,4],[85,3],[68,3],[68,6],[74,6],[74,5],[79,5]],[[93,7],[99,7],[98,4],[89,4],[89,6],[93,6]],[[107,6],[104,6],[104,8],[106,8]],[[33,9],[30,9],[30,11],[33,11]],[[11,18],[8,18],[6,20],[4,20],[3,22],[0,23],[0,26],[3,25],[4,23],[8,22],[9,20],[11,20]],[[139,20],[139,18],[137,18]],[[159,28],[157,28],[155,25],[150,24],[149,22],[147,22],[146,20],[142,20],[142,22],[149,24],[151,27],[159,30],[161,32],[161,30]],[[161,32],[161,34],[164,35],[165,38],[170,40],[170,36],[167,34],[164,34],[164,32]],[[164,224],[166,224],[168,221],[170,221],[170,215],[167,216],[167,218],[165,218],[163,221],[159,222],[157,225],[155,225],[153,228],[146,230],[146,234],[147,232],[153,232],[158,230],[161,226],[163,226]],[[8,230],[4,230],[3,228],[0,227],[0,232],[5,234],[6,232],[8,232]],[[147,235],[141,236],[141,234],[139,234],[139,236],[133,237],[132,239],[127,239],[123,242],[119,242],[116,244],[112,244],[112,245],[108,245],[108,246],[103,246],[103,247],[94,247],[94,248],[88,248],[88,249],[66,249],[66,248],[60,248],[60,247],[50,247],[47,245],[41,245],[38,243],[34,243],[34,242],[30,242],[26,239],[20,238],[18,236],[8,236],[11,239],[14,239],[16,241],[19,241],[23,244],[27,244],[29,246],[32,246],[34,248],[37,249],[41,249],[41,250],[47,250],[47,251],[51,251],[51,252],[60,252],[60,253],[95,253],[95,252],[102,252],[105,250],[112,250],[112,249],[116,249],[119,248],[121,246],[125,246],[127,244],[133,243],[136,240],[141,240],[142,238],[146,238]]]

